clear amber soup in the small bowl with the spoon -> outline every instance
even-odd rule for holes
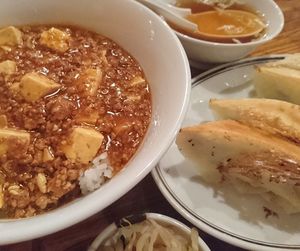
[[[172,27],[194,38],[234,43],[234,37],[239,42],[248,42],[256,38],[257,34],[261,36],[265,28],[260,16],[245,5],[234,4],[226,10],[217,11],[212,6],[192,1],[180,1],[177,6],[191,8],[193,14],[186,19],[197,24],[199,32],[191,33],[174,25]],[[245,37],[245,34],[249,36]]]

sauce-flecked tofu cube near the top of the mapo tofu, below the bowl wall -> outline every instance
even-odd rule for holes
[[[65,52],[69,49],[70,35],[56,28],[43,31],[40,43],[50,49]]]

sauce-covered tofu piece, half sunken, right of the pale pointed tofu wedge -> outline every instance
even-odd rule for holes
[[[102,81],[102,71],[100,68],[87,69],[79,78],[79,85],[84,86],[86,95],[93,96]]]

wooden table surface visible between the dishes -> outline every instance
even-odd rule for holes
[[[300,1],[276,0],[285,15],[285,28],[274,40],[258,48],[251,56],[266,54],[300,52]],[[193,74],[200,73],[193,70]],[[101,198],[99,198],[101,199]],[[174,217],[187,225],[191,225],[179,215],[165,200],[149,174],[135,188],[105,210],[57,233],[18,244],[2,246],[1,251],[37,251],[37,250],[86,250],[88,245],[108,224],[123,216],[141,213],[158,212]],[[202,231],[201,237],[211,250],[242,250],[224,243]]]

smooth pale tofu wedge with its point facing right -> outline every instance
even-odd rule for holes
[[[37,73],[25,74],[20,82],[20,94],[26,101],[34,102],[48,94],[57,91],[60,84]]]

